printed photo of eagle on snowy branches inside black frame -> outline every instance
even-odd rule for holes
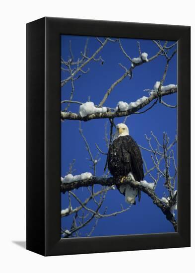
[[[177,41],[61,35],[61,238],[177,231]]]

